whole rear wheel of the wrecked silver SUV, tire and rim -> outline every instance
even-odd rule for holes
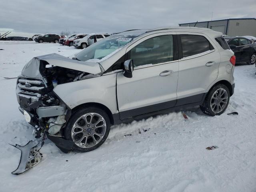
[[[200,105],[200,109],[209,116],[220,115],[228,107],[229,98],[230,92],[227,86],[217,84],[208,92],[204,103]]]

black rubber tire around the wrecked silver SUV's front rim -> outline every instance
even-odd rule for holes
[[[92,151],[92,150],[95,150],[96,148],[98,148],[99,146],[101,146],[105,140],[107,139],[108,137],[108,134],[109,134],[109,131],[110,131],[110,119],[108,117],[108,114],[100,109],[100,108],[97,108],[97,107],[94,107],[94,106],[91,106],[91,107],[86,107],[86,108],[82,108],[78,111],[76,111],[74,114],[72,114],[71,118],[68,120],[68,123],[65,127],[65,129],[63,130],[63,134],[64,134],[64,138],[66,140],[70,140],[70,141],[74,141],[72,139],[72,129],[73,129],[73,125],[76,123],[76,121],[78,121],[79,119],[81,119],[81,117],[85,114],[90,114],[90,113],[96,113],[96,114],[99,114],[100,116],[102,116],[105,120],[105,133],[104,133],[104,136],[102,136],[101,140],[96,143],[94,146],[92,147],[88,147],[88,148],[83,148],[83,147],[80,147],[78,146],[76,143],[74,144],[73,146],[73,150],[75,151],[79,151],[79,152],[89,152],[89,151]],[[92,122],[92,120],[91,120]],[[88,133],[88,128],[86,126],[86,124],[84,124],[84,129],[87,129],[87,133]],[[92,130],[91,130],[92,131]],[[95,125],[95,130],[96,131],[96,125]],[[81,134],[83,134],[83,132],[86,132],[86,131],[82,131]],[[83,136],[81,136],[83,137]],[[91,136],[92,137],[92,136]],[[88,137],[89,139],[89,137]],[[82,140],[81,140],[82,142]],[[87,140],[86,140],[87,142]]]

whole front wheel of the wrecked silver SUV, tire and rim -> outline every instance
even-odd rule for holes
[[[64,138],[74,142],[73,150],[88,152],[101,146],[110,131],[108,114],[94,106],[76,111],[64,129]]]

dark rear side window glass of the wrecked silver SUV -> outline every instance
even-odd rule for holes
[[[193,56],[209,50],[213,50],[212,44],[200,35],[180,35],[182,54],[184,57]]]

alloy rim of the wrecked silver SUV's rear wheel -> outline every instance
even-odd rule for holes
[[[214,113],[222,112],[228,102],[228,93],[225,89],[217,89],[211,98],[211,109]]]

